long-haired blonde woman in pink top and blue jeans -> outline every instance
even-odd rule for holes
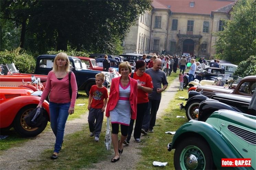
[[[60,52],[54,59],[53,70],[48,73],[46,86],[37,107],[42,107],[43,101],[50,93],[50,119],[53,133],[56,137],[51,159],[57,159],[62,147],[65,124],[69,114],[74,113],[77,95],[75,74],[72,72],[70,84],[72,96],[69,94],[69,59],[66,53]]]

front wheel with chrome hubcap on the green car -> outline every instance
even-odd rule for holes
[[[175,169],[214,169],[212,152],[200,137],[189,137],[177,145],[174,153]]]

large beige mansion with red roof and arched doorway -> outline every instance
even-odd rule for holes
[[[154,0],[123,41],[124,53],[215,54],[214,32],[230,20],[234,0]]]

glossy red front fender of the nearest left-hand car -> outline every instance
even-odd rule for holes
[[[2,102],[0,105],[0,128],[10,126],[20,109],[28,105],[37,106],[39,101],[40,97],[37,96],[19,96]],[[44,100],[42,107],[47,111],[49,121],[49,103]]]

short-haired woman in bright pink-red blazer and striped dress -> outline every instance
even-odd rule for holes
[[[115,156],[111,162],[120,159],[123,153],[123,142],[128,135],[130,120],[137,116],[137,81],[129,76],[132,72],[129,62],[119,65],[120,77],[113,78],[110,87],[106,117],[110,117],[112,125],[112,144]],[[121,139],[118,140],[119,124],[121,124]]]

